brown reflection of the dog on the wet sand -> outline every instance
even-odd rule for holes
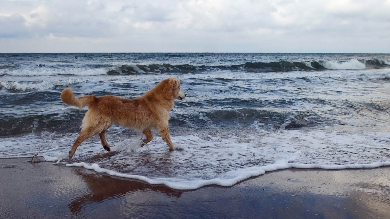
[[[96,173],[87,173],[85,170],[80,169],[75,169],[74,172],[79,175],[90,188],[90,192],[75,198],[68,205],[69,209],[74,214],[80,212],[82,207],[88,203],[99,203],[105,200],[119,198],[127,193],[136,191],[159,192],[168,197],[176,198],[179,198],[182,194],[163,185],[152,186],[142,182],[113,178]]]

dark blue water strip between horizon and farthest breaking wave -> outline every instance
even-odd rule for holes
[[[359,60],[369,68],[389,67],[389,57],[389,54],[366,53],[2,53],[0,69],[97,68],[121,65],[151,67],[166,64],[177,67],[177,71],[193,68],[192,72],[196,72],[196,68],[239,70],[239,67],[245,67],[246,70],[251,69],[250,71],[262,71],[262,68],[281,66],[285,66],[285,69],[280,68],[281,70],[293,71],[293,67],[301,67],[304,70],[324,69],[326,66],[321,65],[323,63],[343,63],[350,60]],[[307,65],[306,62],[309,62],[309,66],[304,66]],[[356,66],[349,67],[355,69]],[[142,70],[154,72],[154,69]]]

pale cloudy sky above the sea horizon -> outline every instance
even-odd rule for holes
[[[390,53],[390,0],[0,0],[0,53]]]

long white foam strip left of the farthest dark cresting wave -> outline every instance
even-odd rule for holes
[[[1,69],[0,75],[10,76],[51,76],[51,75],[82,75],[92,76],[99,74],[107,74],[111,68],[71,68],[71,69],[34,69],[34,70],[7,70]]]

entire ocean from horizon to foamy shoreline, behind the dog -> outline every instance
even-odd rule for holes
[[[175,76],[169,151],[157,132],[113,125],[61,162],[87,107],[85,94],[133,98]],[[173,189],[231,186],[286,168],[390,166],[390,54],[18,53],[0,54],[0,162],[31,158],[83,166]]]

